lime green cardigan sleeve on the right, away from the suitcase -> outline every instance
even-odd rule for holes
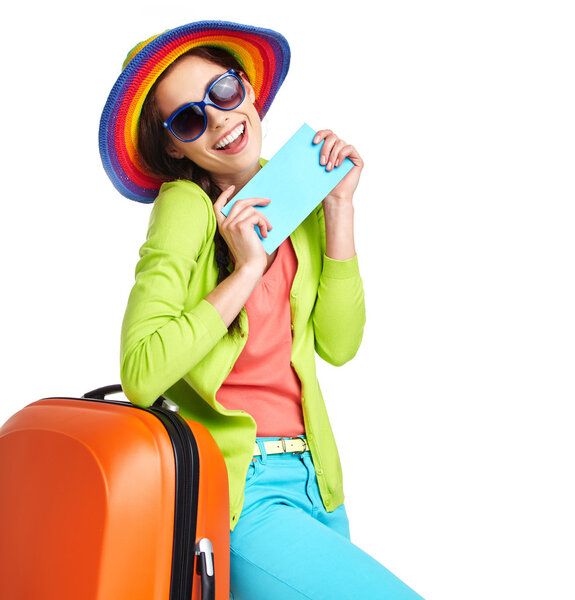
[[[363,282],[357,255],[348,260],[334,260],[325,255],[325,221],[321,208],[317,215],[324,256],[313,312],[315,349],[321,358],[340,366],[355,356],[363,338]]]

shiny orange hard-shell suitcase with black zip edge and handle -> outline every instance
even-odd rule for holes
[[[228,478],[208,431],[100,388],[0,429],[0,598],[228,600]]]

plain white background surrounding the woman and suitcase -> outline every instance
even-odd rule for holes
[[[364,344],[320,364],[355,542],[426,600],[573,600],[572,4],[370,6],[4,9],[0,422],[118,381],[149,207],[112,187],[97,132],[128,49],[207,18],[277,29],[264,155],[307,121],[366,163]]]

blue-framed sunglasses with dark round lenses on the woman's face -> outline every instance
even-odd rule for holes
[[[178,108],[163,125],[180,141],[193,142],[208,126],[206,106],[214,106],[218,110],[233,110],[244,101],[245,96],[246,90],[240,76],[230,69],[210,85],[201,102],[190,102]]]

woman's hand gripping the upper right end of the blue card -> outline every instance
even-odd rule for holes
[[[322,141],[320,164],[325,166],[326,171],[338,168],[345,158],[349,158],[354,164],[351,171],[326,196],[324,204],[351,204],[363,169],[363,159],[352,145],[344,142],[330,129],[321,129],[315,134],[314,144]]]

